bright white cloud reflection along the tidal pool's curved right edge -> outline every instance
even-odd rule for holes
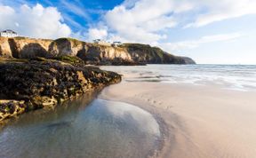
[[[101,99],[97,101],[107,107],[111,115],[115,115],[124,121],[129,120],[130,122],[136,123],[137,127],[140,127],[140,130],[160,137],[159,125],[153,115],[147,111],[123,102],[109,102]]]

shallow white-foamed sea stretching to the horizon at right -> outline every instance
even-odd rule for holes
[[[256,91],[256,65],[152,64],[100,68],[124,75],[124,82],[186,83],[220,86],[235,91]]]

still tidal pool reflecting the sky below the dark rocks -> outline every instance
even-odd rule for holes
[[[161,133],[140,107],[80,99],[21,115],[0,130],[0,157],[128,158],[153,154]]]

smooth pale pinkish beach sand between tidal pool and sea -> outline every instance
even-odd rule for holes
[[[122,82],[100,98],[131,103],[164,120],[169,135],[158,157],[256,158],[255,91]]]

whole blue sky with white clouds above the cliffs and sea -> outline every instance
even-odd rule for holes
[[[20,36],[148,43],[199,64],[256,64],[255,0],[0,0]]]

